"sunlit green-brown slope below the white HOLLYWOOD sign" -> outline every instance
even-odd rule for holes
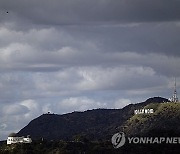
[[[154,113],[133,115],[125,122],[126,134],[140,136],[179,134],[180,103],[151,103],[144,107],[144,109],[151,108],[154,109]]]

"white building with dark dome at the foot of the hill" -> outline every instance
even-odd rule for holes
[[[16,133],[11,133],[9,134],[8,138],[7,138],[7,144],[15,144],[15,143],[31,143],[32,139],[30,138],[30,136],[27,137],[19,137],[17,136]]]

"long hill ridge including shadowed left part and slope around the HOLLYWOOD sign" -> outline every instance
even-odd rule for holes
[[[31,135],[33,139],[74,140],[109,140],[112,135],[126,126],[128,134],[157,133],[157,130],[171,127],[178,123],[179,104],[163,103],[167,99],[154,97],[138,104],[130,104],[122,109],[94,109],[85,112],[73,112],[63,115],[43,114],[21,129],[18,135]],[[149,106],[148,106],[149,105]],[[134,115],[135,109],[153,107],[157,109],[151,116]],[[167,122],[168,119],[168,122]],[[167,129],[167,131],[172,131]]]

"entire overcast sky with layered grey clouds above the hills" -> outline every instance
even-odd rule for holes
[[[180,0],[0,0],[0,140],[48,111],[180,91]]]

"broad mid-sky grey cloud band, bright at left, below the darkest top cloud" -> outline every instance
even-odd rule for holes
[[[165,75],[179,76],[178,30],[176,35],[173,27],[167,26],[174,33],[170,33],[172,37],[165,37],[161,25],[152,26],[153,35],[152,30],[146,28],[145,31],[144,26],[141,29],[111,27],[106,32],[98,27],[88,33],[86,28],[80,33],[78,28],[68,32],[67,29],[43,28],[26,33],[2,28],[0,69],[46,72],[72,66],[145,65]],[[96,32],[100,34],[92,36]],[[154,36],[157,34],[158,37]]]

